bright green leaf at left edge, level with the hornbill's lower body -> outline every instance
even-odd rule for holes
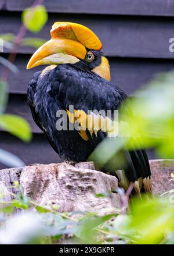
[[[20,116],[10,114],[1,115],[0,126],[23,141],[28,142],[31,140],[30,126],[27,121]]]

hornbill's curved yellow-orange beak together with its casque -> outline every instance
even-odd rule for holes
[[[102,43],[88,27],[71,22],[56,22],[50,31],[52,39],[32,55],[27,69],[39,65],[76,63],[85,59],[86,48],[100,50]]]

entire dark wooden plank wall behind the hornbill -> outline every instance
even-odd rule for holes
[[[17,33],[21,11],[33,0],[0,0],[0,34]],[[174,1],[168,0],[45,0],[49,21],[39,34],[27,37],[48,40],[56,21],[71,21],[92,29],[103,42],[103,52],[111,65],[111,80],[127,94],[147,83],[156,73],[173,69],[174,53],[169,51],[169,38],[174,37]],[[8,113],[28,120],[34,134],[32,142],[24,144],[1,131],[0,147],[9,150],[27,164],[59,162],[59,157],[34,124],[26,102],[28,80],[38,67],[26,70],[34,48],[20,47],[16,59],[19,74],[9,77]],[[8,58],[9,50],[2,54]],[[0,73],[2,66],[0,65]],[[150,154],[150,158],[151,158]],[[0,164],[0,169],[3,168]]]

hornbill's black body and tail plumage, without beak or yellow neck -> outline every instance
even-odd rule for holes
[[[119,87],[92,72],[101,63],[101,52],[93,51],[95,61],[88,63],[79,61],[75,64],[63,64],[46,67],[42,72],[34,74],[28,84],[27,98],[35,123],[42,129],[53,149],[61,158],[76,162],[86,161],[96,145],[106,137],[99,131],[97,136],[84,140],[77,130],[56,129],[56,112],[69,109],[88,109],[114,111],[121,108],[126,94]],[[48,156],[49,157],[49,156]],[[125,173],[129,183],[144,179],[143,189],[151,191],[146,179],[150,178],[150,166],[144,150],[125,151],[127,162]],[[120,166],[121,167],[121,166]],[[118,175],[118,178],[121,179]],[[121,180],[120,180],[121,182]],[[121,182],[122,184],[122,182]],[[139,193],[139,189],[135,186]]]

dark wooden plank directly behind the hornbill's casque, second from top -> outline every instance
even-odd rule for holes
[[[115,17],[96,15],[55,15],[39,34],[27,33],[30,37],[50,38],[50,29],[57,20],[84,24],[92,29],[103,42],[103,52],[107,56],[140,58],[173,58],[169,51],[169,38],[173,37],[173,18]],[[0,31],[16,34],[21,21],[19,13],[2,12]],[[9,52],[9,50],[6,50]],[[34,49],[20,48],[21,53],[32,53]]]

